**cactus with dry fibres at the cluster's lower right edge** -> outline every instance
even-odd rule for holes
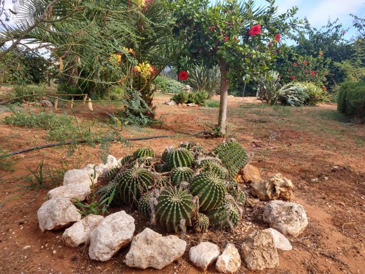
[[[231,230],[237,227],[240,215],[235,205],[224,199],[215,209],[207,212],[210,226],[214,229]]]

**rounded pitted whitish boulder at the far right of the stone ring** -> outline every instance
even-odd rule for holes
[[[271,201],[265,206],[262,219],[271,228],[293,237],[299,236],[308,225],[307,214],[302,205],[280,200]]]

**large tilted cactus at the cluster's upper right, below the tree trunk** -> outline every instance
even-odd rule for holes
[[[222,161],[229,176],[236,175],[248,161],[247,152],[236,141],[223,142],[216,146],[212,153]]]

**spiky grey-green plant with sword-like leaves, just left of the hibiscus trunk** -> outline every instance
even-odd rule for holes
[[[189,78],[187,79],[194,91],[206,90],[209,98],[219,93],[220,90],[220,70],[219,66],[215,65],[212,68],[206,66],[195,66],[195,69],[188,71]]]

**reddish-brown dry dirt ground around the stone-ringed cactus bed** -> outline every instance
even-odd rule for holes
[[[158,106],[156,117],[161,116],[164,122],[160,128],[125,131],[124,137],[161,134],[179,134],[180,137],[134,141],[131,146],[114,142],[111,154],[118,159],[142,145],[161,153],[167,145],[188,140],[211,149],[222,141],[222,138],[204,136],[184,137],[215,126],[218,109],[167,106],[164,102],[169,97],[157,94],[154,99]],[[34,107],[22,109],[39,112]],[[101,117],[116,109],[117,106],[94,106],[95,114]],[[289,239],[293,250],[278,251],[280,266],[277,269],[253,272],[242,264],[238,273],[365,273],[365,128],[338,121],[335,109],[334,104],[269,107],[254,98],[228,99],[229,134],[247,151],[254,152],[251,164],[260,169],[263,179],[279,172],[292,180],[294,201],[304,206],[309,218],[303,234]],[[57,111],[65,112],[69,110],[59,108]],[[0,117],[9,114],[1,113]],[[78,120],[92,119],[85,111],[77,110],[75,115]],[[0,145],[7,152],[48,144],[46,137],[46,130],[0,125]],[[240,250],[246,235],[267,227],[261,217],[265,203],[249,197],[234,235],[223,232],[195,235],[189,231],[184,237],[188,244],[185,255],[163,270],[141,271],[127,267],[123,260],[128,248],[119,251],[109,262],[93,262],[88,258],[87,247],[65,247],[62,231],[42,233],[39,229],[37,210],[47,191],[54,186],[26,193],[14,192],[19,189],[17,185],[25,182],[11,178],[30,173],[24,164],[34,169],[42,158],[47,168],[58,168],[60,161],[70,166],[82,161],[81,167],[100,163],[97,148],[78,145],[73,156],[67,156],[67,150],[67,146],[56,146],[15,155],[8,159],[14,170],[0,168],[0,273],[200,273],[189,263],[189,247],[199,241],[211,241],[223,250],[231,242]],[[312,182],[311,179],[316,178],[318,181]],[[129,212],[128,208],[124,210]],[[138,221],[136,233],[141,232],[147,224],[137,212],[130,214]],[[166,235],[158,226],[153,229]],[[23,249],[28,245],[31,248]],[[321,255],[321,251],[348,265]],[[215,273],[214,267],[207,272]]]

